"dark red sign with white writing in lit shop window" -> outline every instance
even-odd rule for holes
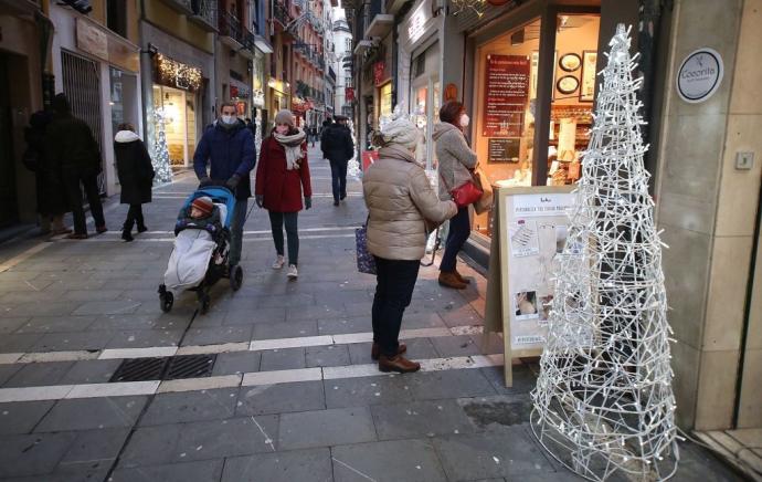
[[[481,135],[520,137],[528,95],[526,55],[487,55]]]

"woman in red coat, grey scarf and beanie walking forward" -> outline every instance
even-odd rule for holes
[[[313,207],[313,188],[307,164],[307,143],[304,130],[295,127],[290,111],[281,111],[275,116],[275,128],[262,142],[260,163],[256,167],[254,195],[256,205],[269,211],[273,241],[277,259],[273,269],[284,266],[283,226],[288,237],[288,277],[298,276],[296,265],[299,256],[297,216],[304,207]]]

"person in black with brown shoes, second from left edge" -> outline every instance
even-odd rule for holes
[[[51,165],[61,166],[61,178],[74,217],[74,232],[67,238],[87,238],[81,184],[85,188],[89,211],[95,220],[95,231],[98,234],[106,232],[108,229],[98,192],[98,174],[102,170],[98,143],[93,137],[89,126],[72,115],[65,94],[56,94],[52,106],[53,122],[47,127],[46,155]]]

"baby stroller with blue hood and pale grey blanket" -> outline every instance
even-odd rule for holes
[[[195,228],[192,223],[184,226],[182,218],[178,218],[174,250],[169,259],[165,282],[159,285],[159,301],[165,313],[172,310],[174,295],[187,290],[197,293],[199,311],[204,314],[209,311],[209,292],[214,283],[227,277],[233,291],[237,291],[243,283],[241,266],[229,266],[230,226],[235,196],[224,186],[199,188],[186,199],[180,212],[190,212],[191,202],[202,196],[211,198],[219,209],[221,229],[214,226]]]

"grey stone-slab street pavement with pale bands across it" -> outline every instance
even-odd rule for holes
[[[423,269],[403,336],[421,373],[381,375],[370,359],[374,279],[354,266],[364,217],[357,180],[332,206],[310,150],[314,208],[299,216],[299,279],[269,266],[266,212],[245,226],[244,284],[192,293],[171,313],[157,285],[186,174],[157,188],[149,232],[0,247],[0,479],[13,481],[571,481],[527,425],[536,367],[481,353],[485,279],[444,291]],[[91,224],[92,230],[92,224]],[[212,355],[210,376],[109,383],[125,360]],[[165,377],[168,378],[168,377]],[[737,476],[685,446],[676,480]],[[623,480],[623,479],[620,479]]]

